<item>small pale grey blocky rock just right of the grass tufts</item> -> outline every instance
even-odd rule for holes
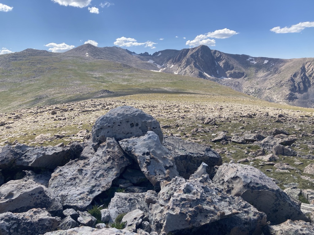
[[[136,209],[147,214],[148,204],[145,201],[145,195],[146,193],[115,193],[115,196],[108,205],[110,213],[109,222],[113,222],[120,214],[128,213]]]

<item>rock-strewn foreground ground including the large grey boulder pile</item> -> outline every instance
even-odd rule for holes
[[[1,114],[0,234],[314,233],[311,113],[126,102]]]

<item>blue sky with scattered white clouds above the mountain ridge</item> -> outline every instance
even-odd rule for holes
[[[0,0],[0,54],[90,42],[149,54],[205,44],[255,57],[314,57],[313,9],[313,0]]]

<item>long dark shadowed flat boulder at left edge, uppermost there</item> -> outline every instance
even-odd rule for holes
[[[73,142],[65,147],[31,147],[25,144],[5,145],[0,153],[0,169],[32,167],[55,169],[71,159],[76,159],[82,152],[82,145]]]

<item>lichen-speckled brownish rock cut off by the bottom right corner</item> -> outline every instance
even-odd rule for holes
[[[264,232],[265,235],[312,235],[314,234],[314,226],[304,221],[287,220],[278,225],[268,226]]]

